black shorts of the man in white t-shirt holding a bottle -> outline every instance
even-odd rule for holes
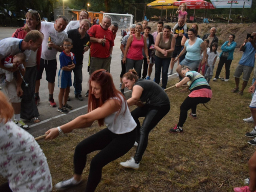
[[[40,80],[42,78],[42,72],[46,68],[46,80],[48,82],[54,83],[57,71],[57,59],[45,60],[40,59],[40,68],[36,75],[36,80]]]

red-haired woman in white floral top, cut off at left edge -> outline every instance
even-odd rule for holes
[[[8,183],[0,191],[52,191],[45,154],[34,137],[12,120],[13,108],[0,92],[0,175]]]

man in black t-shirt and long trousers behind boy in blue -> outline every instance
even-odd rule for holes
[[[90,36],[87,34],[87,30],[90,28],[90,20],[82,19],[80,22],[80,27],[78,29],[73,29],[68,31],[68,36],[73,40],[73,48],[71,52],[75,54],[76,57],[76,67],[73,69],[74,72],[74,88],[75,97],[82,101],[81,96],[82,91],[82,60],[83,53],[89,50],[89,46],[84,47],[88,41],[90,41]]]

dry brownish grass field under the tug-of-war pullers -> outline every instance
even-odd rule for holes
[[[207,106],[211,110],[199,105],[198,118],[187,118],[183,134],[170,134],[168,130],[177,124],[180,104],[188,93],[176,88],[168,90],[171,110],[151,132],[139,170],[119,165],[134,156],[136,147],[133,147],[103,168],[96,191],[232,191],[233,187],[243,186],[243,179],[249,176],[248,160],[255,147],[247,144],[249,139],[244,136],[253,128],[252,123],[243,122],[243,118],[250,117],[248,88],[243,96],[231,93],[235,87],[232,76],[241,55],[241,52],[234,54],[228,82],[210,82],[213,97]],[[221,77],[224,74],[225,68]],[[178,79],[169,81],[168,87],[176,82]],[[88,129],[39,142],[49,163],[53,185],[73,175],[75,146],[101,129],[94,123]],[[96,153],[88,156],[84,182],[65,191],[84,191],[89,164]],[[0,183],[3,182],[0,179]]]

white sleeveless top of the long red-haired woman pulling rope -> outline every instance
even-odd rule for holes
[[[118,98],[115,97],[110,99],[118,99]],[[111,115],[109,115],[108,117],[105,117],[104,119],[104,123],[106,124],[106,126],[108,126],[108,129],[115,134],[129,133],[133,131],[137,126],[135,120],[131,115],[127,102],[123,98],[122,98],[122,102],[123,103],[121,106],[121,111],[120,111],[120,114],[117,116],[117,118],[116,118],[116,114],[118,113],[118,111],[115,113],[112,113]],[[125,111],[125,105],[126,105],[126,111]]]

